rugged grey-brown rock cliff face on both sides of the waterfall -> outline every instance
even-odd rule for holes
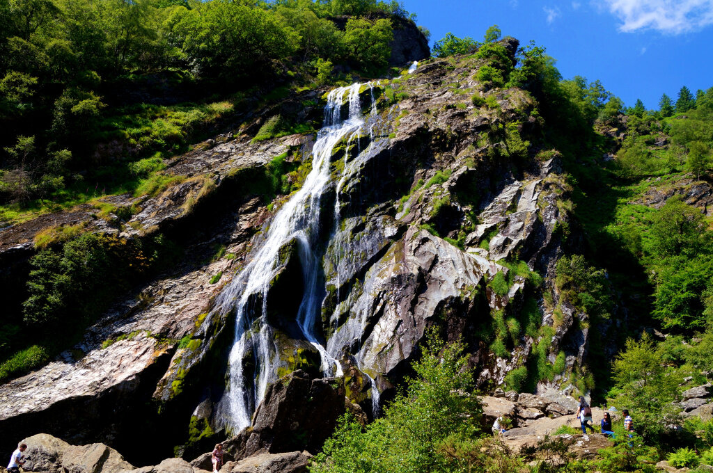
[[[409,373],[429,326],[466,341],[483,388],[524,386],[538,345],[545,347],[539,361],[554,373],[533,380],[542,381],[540,390],[571,392],[569,376],[587,360],[585,316],[560,303],[554,284],[555,264],[573,232],[558,153],[527,141],[543,127],[533,118],[533,98],[479,83],[482,63],[429,61],[411,75],[360,90],[366,113],[372,93],[376,100],[371,128],[334,148],[320,203],[326,217],[318,239],[316,333],[343,368],[342,395],[370,414]],[[488,105],[475,105],[482,98]],[[319,113],[319,106],[304,113]],[[106,222],[88,208],[54,217],[123,239],[178,236],[187,257],[128,294],[73,349],[0,385],[3,445],[47,432],[106,442],[133,464],[155,464],[177,445],[190,459],[225,437],[217,406],[235,314],[213,310],[214,301],[289,199],[279,195],[266,205],[253,185],[257,176],[286,155],[294,171],[284,179],[299,188],[314,143],[309,134],[250,142],[268,115],[235,139],[222,137],[169,162],[165,172],[184,179],[158,196],[116,197],[120,206],[138,207],[128,222]],[[4,230],[1,256],[9,261],[31,252],[41,227],[27,222]],[[214,244],[231,256],[211,259]],[[298,253],[285,251],[265,301],[277,375],[320,371],[319,350],[293,320],[304,285]],[[143,455],[146,442],[155,445],[153,457]]]

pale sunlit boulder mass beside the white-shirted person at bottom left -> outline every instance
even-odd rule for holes
[[[119,473],[134,469],[119,452],[104,444],[69,445],[48,434],[33,435],[23,442],[27,444],[24,453],[26,470],[47,473]]]

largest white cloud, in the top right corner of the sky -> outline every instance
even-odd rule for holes
[[[597,0],[622,21],[620,31],[679,34],[713,24],[713,0]]]

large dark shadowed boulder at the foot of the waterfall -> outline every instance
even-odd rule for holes
[[[267,388],[252,425],[224,442],[223,448],[237,460],[257,453],[317,452],[344,410],[339,380],[312,379],[297,370]]]

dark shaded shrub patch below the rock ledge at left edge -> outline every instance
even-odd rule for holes
[[[91,233],[61,249],[39,251],[31,260],[23,320],[0,319],[0,382],[46,363],[81,336],[120,291],[164,267],[177,251],[160,236],[125,240]]]

